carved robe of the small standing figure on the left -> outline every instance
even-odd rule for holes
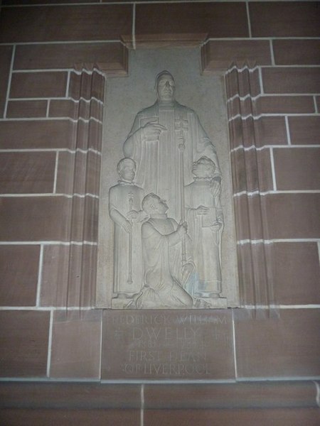
[[[109,213],[114,222],[114,288],[120,297],[131,297],[142,288],[142,242],[141,223],[132,221],[132,284],[129,284],[129,233],[124,230],[121,220],[132,209],[139,212],[144,190],[130,182],[119,181],[110,188]]]

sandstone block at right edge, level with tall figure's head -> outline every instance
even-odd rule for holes
[[[320,93],[320,67],[262,67],[265,93]]]

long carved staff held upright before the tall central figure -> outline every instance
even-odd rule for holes
[[[188,130],[188,120],[179,117],[175,120],[175,129],[178,131],[179,140],[179,174],[180,174],[180,208],[181,208],[181,222],[185,222],[185,202],[184,202],[184,150],[186,148],[186,140],[184,138],[184,131]],[[182,248],[182,266],[186,264],[186,236],[183,235],[181,239]]]

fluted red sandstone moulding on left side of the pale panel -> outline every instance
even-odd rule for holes
[[[64,168],[61,185],[70,199],[66,215],[69,223],[67,245],[59,253],[65,256],[65,271],[56,306],[95,305],[104,84],[105,77],[97,70],[70,72],[68,96],[73,144],[70,150],[59,154]]]

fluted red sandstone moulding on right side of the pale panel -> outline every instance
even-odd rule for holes
[[[226,72],[238,268],[242,305],[272,306],[272,241],[266,197],[272,190],[272,145],[257,99],[261,96],[259,67],[233,65]]]

